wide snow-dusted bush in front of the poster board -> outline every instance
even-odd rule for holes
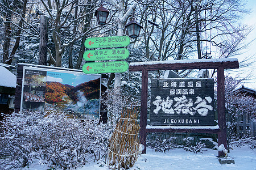
[[[39,161],[67,169],[104,159],[112,128],[97,122],[74,120],[56,111],[12,113],[2,122],[0,168],[26,167]]]

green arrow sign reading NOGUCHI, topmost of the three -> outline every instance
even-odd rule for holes
[[[86,48],[115,48],[129,44],[130,38],[128,36],[88,38],[84,42]]]

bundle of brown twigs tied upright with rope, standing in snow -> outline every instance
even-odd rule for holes
[[[133,167],[139,155],[138,107],[125,107],[109,141],[108,165],[111,169]]]

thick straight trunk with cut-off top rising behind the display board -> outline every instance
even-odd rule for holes
[[[39,44],[39,65],[47,65],[47,42],[48,42],[48,17],[41,16],[40,44]]]

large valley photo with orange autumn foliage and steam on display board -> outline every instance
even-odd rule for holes
[[[100,114],[100,75],[47,71],[46,108],[61,109],[76,118]]]

